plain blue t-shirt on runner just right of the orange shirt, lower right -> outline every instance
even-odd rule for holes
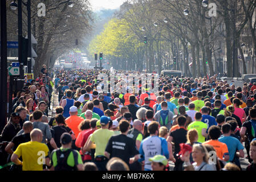
[[[243,149],[242,143],[234,137],[220,137],[218,139],[222,143],[226,143],[227,149],[229,150],[229,162],[232,162],[237,150]]]

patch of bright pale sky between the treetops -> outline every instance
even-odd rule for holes
[[[90,0],[93,11],[98,11],[101,9],[117,9],[126,0]]]

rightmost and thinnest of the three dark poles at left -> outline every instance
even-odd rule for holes
[[[27,39],[29,39],[29,47],[27,57],[27,72],[31,73],[31,0],[27,0]]]

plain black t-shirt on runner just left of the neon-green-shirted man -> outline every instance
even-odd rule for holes
[[[173,138],[174,143],[174,154],[178,154],[180,152],[180,143],[186,143],[186,134],[187,130],[180,128],[177,130],[174,130],[170,133],[170,137]]]

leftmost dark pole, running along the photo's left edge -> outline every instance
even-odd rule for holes
[[[0,69],[0,133],[7,121],[7,30],[6,1],[1,1],[1,69]]]

